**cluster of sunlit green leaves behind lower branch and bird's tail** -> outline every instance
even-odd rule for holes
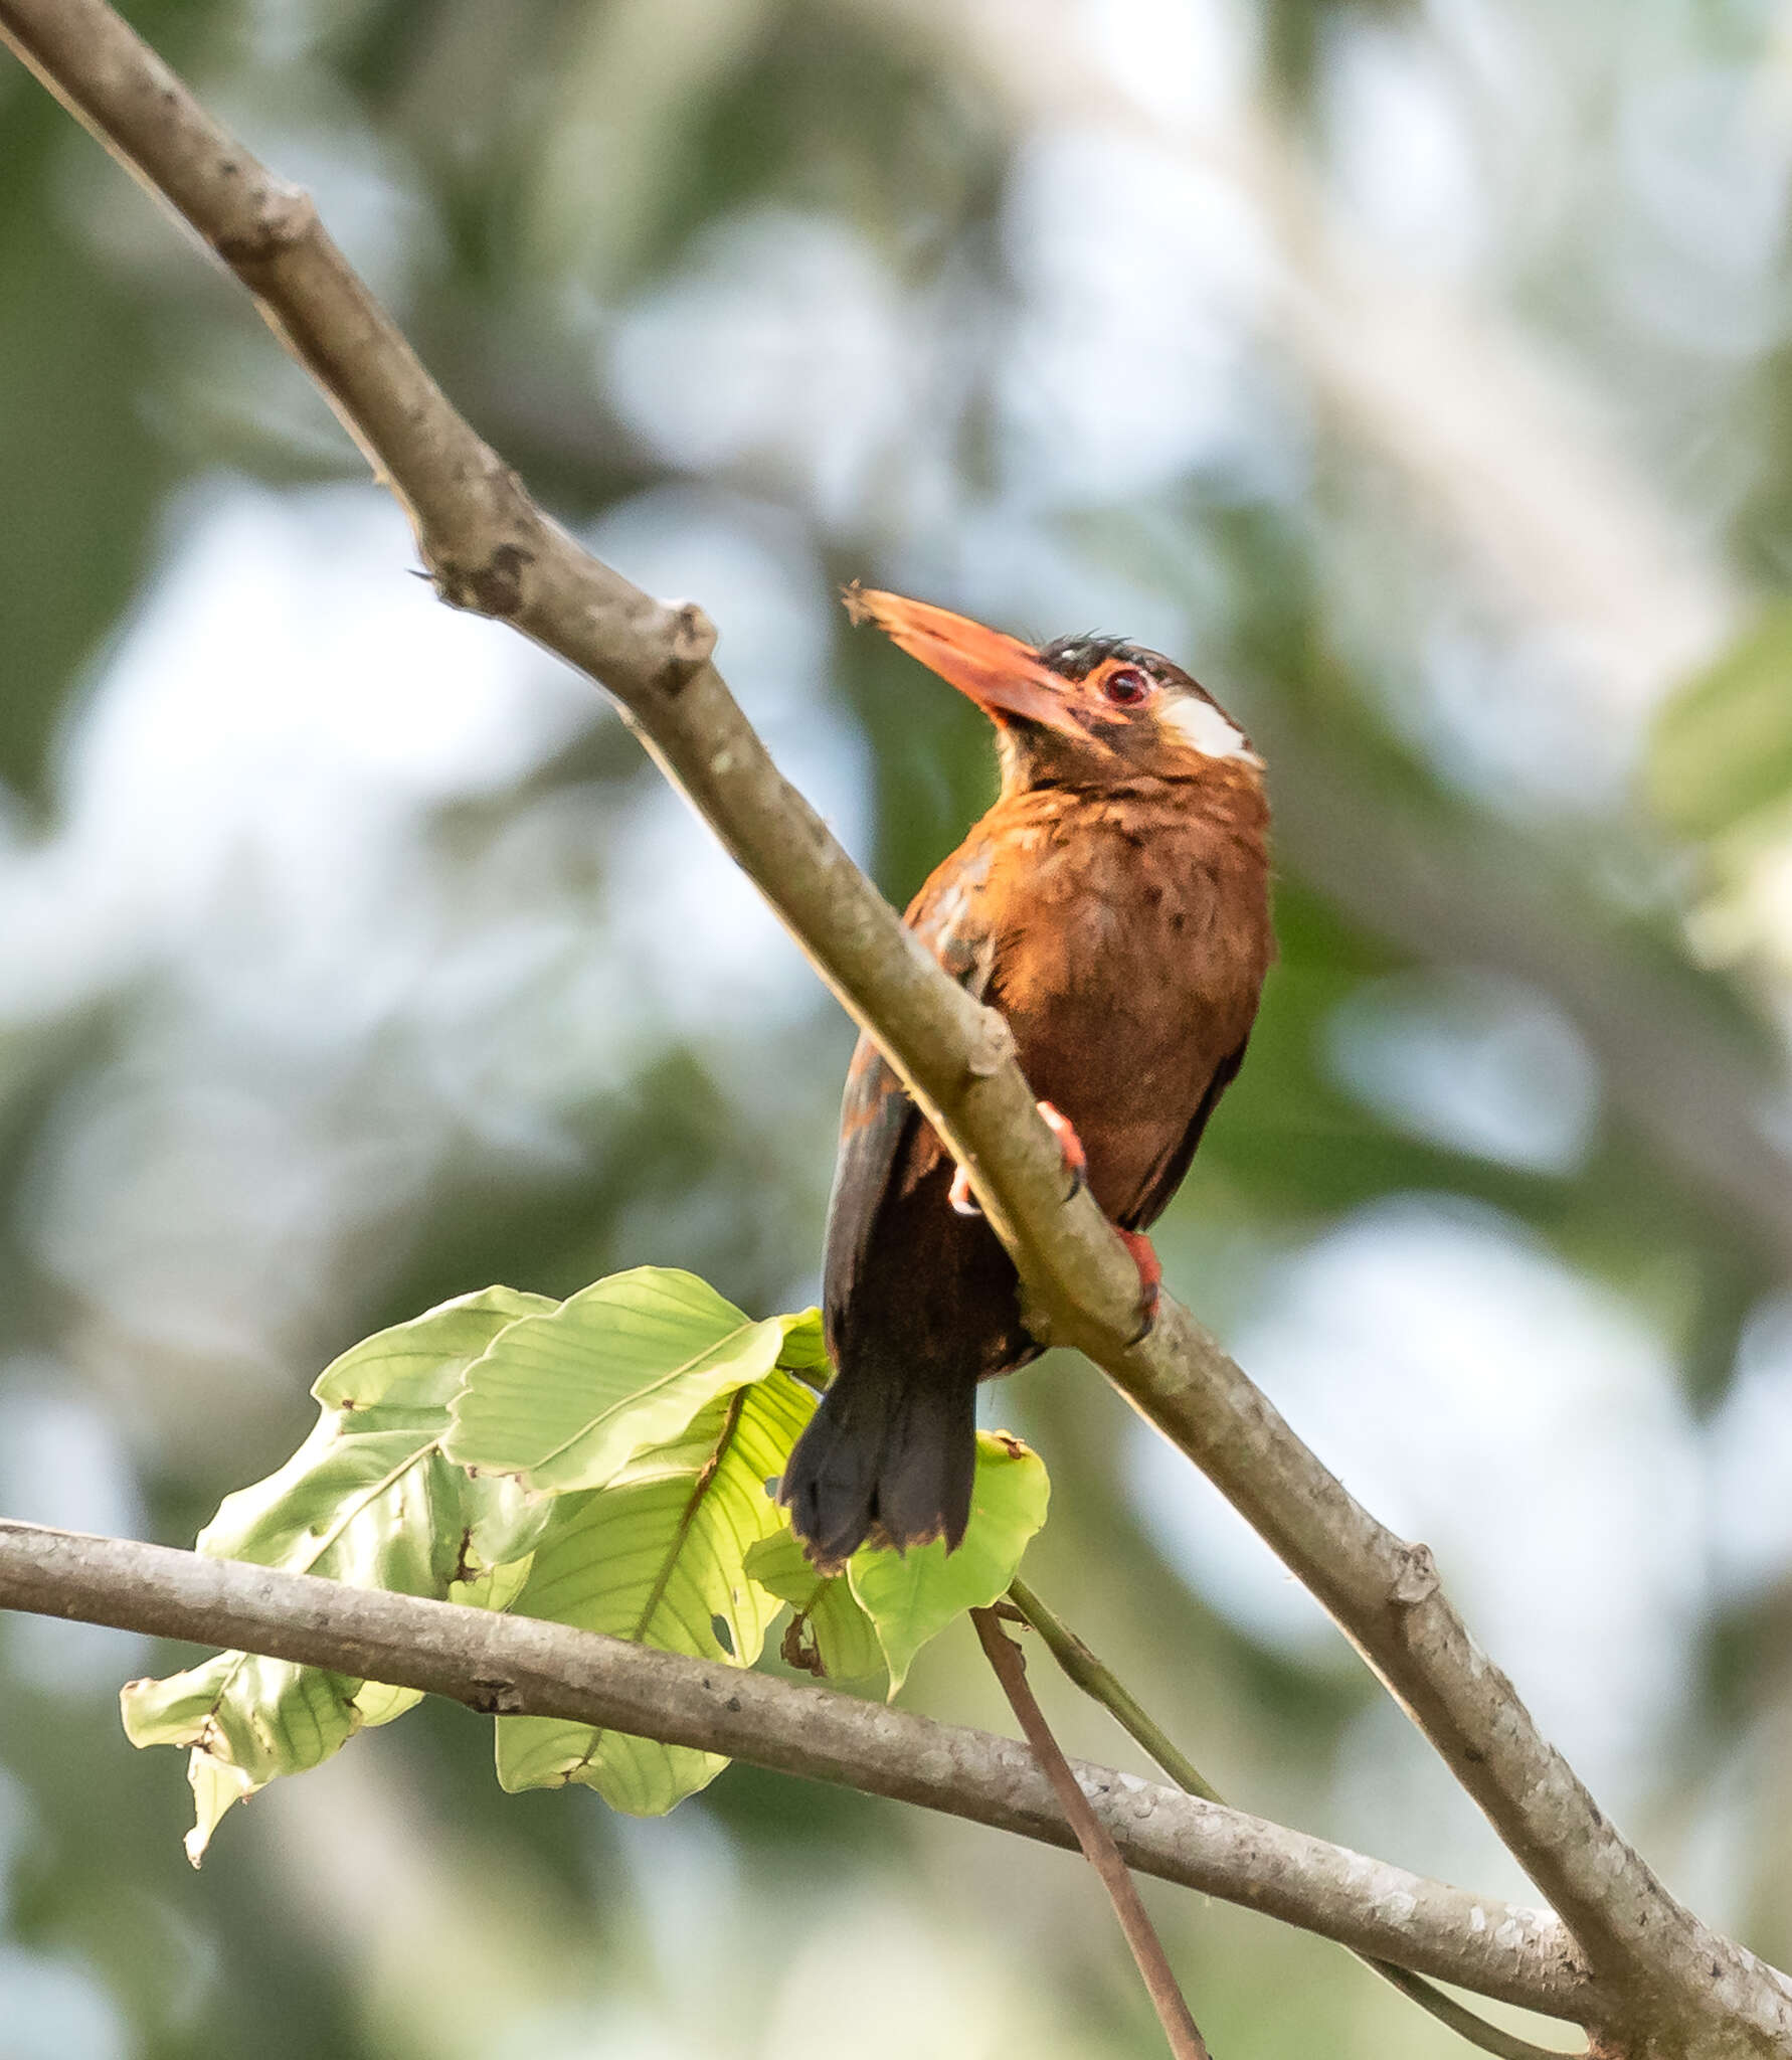
[[[509,1609],[750,1667],[789,1607],[789,1662],[902,1685],[956,1615],[995,1601],[1044,1522],[1046,1471],[1018,1438],[978,1440],[964,1545],[869,1545],[818,1574],[777,1502],[826,1382],[820,1314],[754,1320],[692,1273],[636,1267],[566,1302],[486,1288],[379,1331],[315,1382],[317,1426],[233,1496],[198,1547]],[[280,1774],[387,1724],[414,1689],[220,1652],[124,1689],[134,1745],[183,1745],[187,1856]],[[659,1815],[727,1765],[719,1753],[589,1724],[498,1716],[507,1790],[581,1782]]]

